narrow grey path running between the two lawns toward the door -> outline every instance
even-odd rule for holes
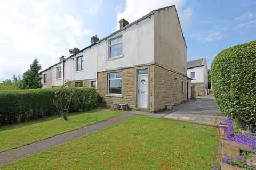
[[[54,146],[60,145],[61,143],[67,142],[68,140],[81,137],[82,135],[106,128],[114,123],[121,122],[127,118],[136,116],[131,113],[126,113],[120,116],[109,118],[108,120],[95,123],[92,125],[84,126],[77,130],[73,130],[67,133],[55,135],[54,137],[47,138],[38,142],[30,143],[19,148],[11,149],[0,153],[0,166],[10,164],[19,159],[28,157],[30,155],[36,154],[37,152],[52,148]]]

